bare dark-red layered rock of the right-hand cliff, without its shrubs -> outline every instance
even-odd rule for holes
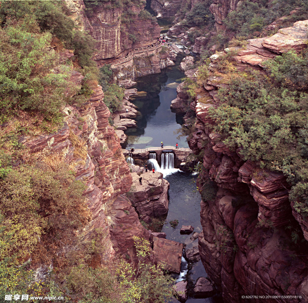
[[[290,49],[301,50],[307,23],[298,21],[272,37],[249,40],[245,49],[233,55],[234,66],[239,71],[246,67],[260,71],[267,59]],[[209,69],[215,69],[219,57],[228,51],[210,57]],[[197,81],[198,72],[189,72]],[[199,83],[198,95],[189,104],[197,116],[189,147],[196,155],[204,152],[199,176],[203,265],[225,302],[244,302],[242,295],[280,296],[262,299],[264,302],[308,302],[307,220],[290,205],[290,185],[282,173],[243,160],[239,149],[231,151],[219,134],[209,130],[214,122],[208,111],[215,107],[220,87],[227,84],[213,73],[203,85]],[[183,102],[185,95],[182,90],[178,93],[177,99]],[[207,192],[209,179],[218,186],[214,196]],[[290,230],[301,228],[295,244]],[[293,297],[283,297],[286,295]]]

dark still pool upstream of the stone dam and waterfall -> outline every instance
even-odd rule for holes
[[[185,75],[179,69],[183,57],[178,55],[176,65],[168,67],[160,74],[149,75],[137,79],[138,91],[146,91],[147,95],[131,101],[138,107],[140,115],[135,118],[138,127],[128,128],[125,134],[128,136],[124,148],[146,148],[160,146],[188,147],[185,138],[176,139],[173,134],[183,123],[182,115],[177,115],[170,110],[171,101],[176,98],[176,87]]]

